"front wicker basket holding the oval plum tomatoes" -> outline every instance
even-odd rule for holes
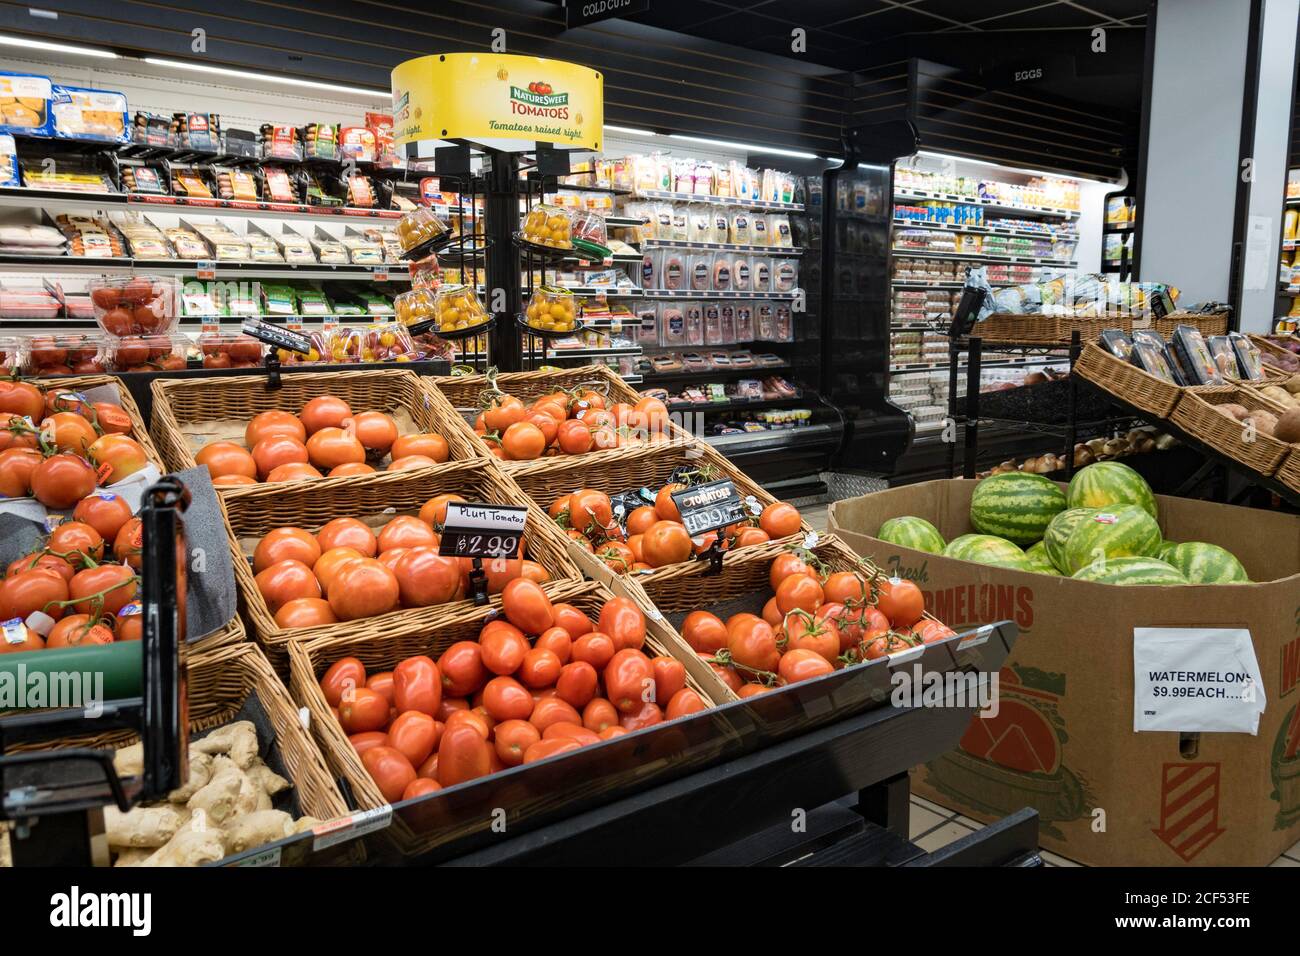
[[[599,609],[612,597],[599,584],[577,584],[562,588],[552,594],[555,601],[567,601],[590,617],[593,620],[599,615]],[[312,732],[325,754],[330,769],[335,775],[347,780],[356,803],[361,809],[372,809],[385,805],[384,795],[380,792],[369,773],[361,766],[356,750],[348,743],[347,735],[334,717],[325,696],[320,689],[320,678],[332,663],[342,657],[356,657],[365,665],[367,671],[393,670],[400,661],[413,654],[428,654],[437,658],[443,650],[456,641],[474,641],[478,632],[486,623],[490,611],[486,607],[477,609],[473,614],[448,620],[437,627],[428,628],[419,633],[384,633],[376,637],[361,635],[339,635],[337,637],[322,637],[313,641],[294,641],[289,648],[290,657],[290,688],[294,700],[311,714]],[[694,689],[707,704],[716,705],[729,695],[725,685],[702,665],[697,656],[686,646],[671,628],[654,619],[646,620],[645,650],[654,654],[668,654],[682,661],[686,667],[686,685]],[[491,814],[481,814],[481,826],[491,822]],[[455,839],[462,832],[445,832],[433,838],[433,843],[425,843],[422,849],[428,849],[437,842]]]

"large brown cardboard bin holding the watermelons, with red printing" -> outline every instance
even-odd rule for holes
[[[1231,550],[1253,584],[1114,587],[900,548],[875,537],[918,515],[971,531],[976,481],[927,481],[831,506],[828,529],[926,592],[962,630],[1010,619],[1020,637],[1000,709],[913,771],[913,788],[992,821],[1037,809],[1044,847],[1096,866],[1262,866],[1300,840],[1300,518],[1157,496],[1174,541]],[[1258,734],[1134,731],[1134,628],[1248,628],[1264,678]]]

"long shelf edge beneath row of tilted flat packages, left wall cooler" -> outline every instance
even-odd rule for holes
[[[313,263],[231,263],[211,264],[216,278],[351,278],[372,282],[410,282],[404,264],[391,265],[329,265]],[[0,272],[60,272],[68,274],[99,276],[104,273],[146,273],[155,276],[191,276],[199,271],[196,259],[127,259],[87,256],[27,256],[0,255]]]

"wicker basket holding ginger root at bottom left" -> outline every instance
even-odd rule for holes
[[[235,719],[250,697],[257,698],[276,730],[276,747],[287,771],[286,775],[294,783],[303,813],[322,821],[344,816],[347,805],[325,766],[321,752],[303,730],[298,708],[263,653],[252,644],[239,644],[188,657],[187,700],[191,734],[202,734]],[[53,744],[20,745],[13,749],[73,747],[116,749],[138,739],[135,731],[114,730],[64,737]]]

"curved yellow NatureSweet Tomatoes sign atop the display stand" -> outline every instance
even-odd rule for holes
[[[525,139],[599,150],[604,85],[597,70],[508,53],[442,53],[393,70],[393,135]]]

